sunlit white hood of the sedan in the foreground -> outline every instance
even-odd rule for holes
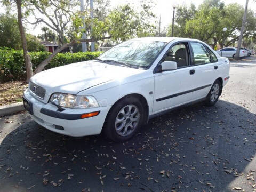
[[[42,71],[30,81],[44,87],[48,93],[77,94],[114,79],[142,73],[142,69],[110,65],[97,61],[84,61]]]

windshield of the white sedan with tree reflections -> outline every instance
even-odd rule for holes
[[[98,57],[117,65],[147,68],[166,45],[166,42],[133,39],[114,46]]]

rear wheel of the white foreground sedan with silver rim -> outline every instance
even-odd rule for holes
[[[206,97],[206,105],[207,106],[214,106],[215,103],[218,101],[221,93],[221,83],[217,79],[213,84],[212,87]]]

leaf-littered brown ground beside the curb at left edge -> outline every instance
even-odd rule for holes
[[[0,106],[22,101],[23,89],[28,84],[22,81],[0,83]]]

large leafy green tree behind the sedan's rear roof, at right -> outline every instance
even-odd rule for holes
[[[225,5],[222,1],[205,0],[190,19],[184,19],[187,12],[186,7],[179,11],[179,19],[183,24],[178,27],[185,26],[185,29],[180,27],[182,30],[179,33],[183,33],[185,37],[201,39],[212,47],[217,43],[221,46],[230,46],[238,40],[244,14],[243,6],[237,3]],[[224,27],[227,28],[225,33],[222,31]],[[252,36],[255,28],[256,17],[254,12],[249,10],[243,37]]]

